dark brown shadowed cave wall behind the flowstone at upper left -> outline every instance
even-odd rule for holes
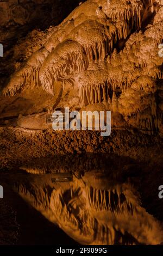
[[[43,30],[50,25],[58,25],[79,2],[79,0],[0,1],[0,42],[3,43],[4,48],[9,48],[20,36],[26,35],[34,28]]]

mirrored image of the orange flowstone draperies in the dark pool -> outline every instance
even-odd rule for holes
[[[88,185],[92,179],[96,181],[95,187]],[[29,189],[20,185],[18,192],[78,242],[133,245],[162,241],[159,223],[141,208],[129,184],[111,185],[110,188],[105,184],[107,188],[104,189],[102,180],[91,176],[91,172],[85,176],[85,181],[74,177],[70,186],[60,184],[56,189],[48,183],[40,186],[40,178],[38,182],[35,180]]]

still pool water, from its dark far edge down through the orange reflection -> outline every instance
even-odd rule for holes
[[[125,164],[124,164],[125,163]],[[136,163],[115,155],[55,156],[29,162],[15,188],[49,221],[84,245],[158,244],[160,223],[141,207]]]

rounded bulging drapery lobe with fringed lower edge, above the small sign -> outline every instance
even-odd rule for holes
[[[66,40],[47,57],[40,70],[43,89],[53,94],[53,83],[59,76],[64,76],[66,69],[74,67],[77,72],[87,69],[87,57],[78,42]]]

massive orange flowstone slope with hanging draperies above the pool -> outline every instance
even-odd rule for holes
[[[26,91],[43,89],[54,95],[45,96],[52,101],[46,108],[111,110],[112,126],[161,134],[162,18],[162,1],[88,0],[51,28],[2,93],[17,94],[20,106]],[[30,108],[23,114],[34,113]],[[30,117],[18,125],[46,127]]]

